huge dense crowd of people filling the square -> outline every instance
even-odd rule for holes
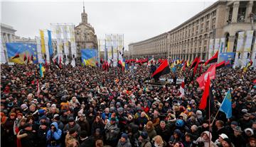
[[[145,83],[150,69],[50,64],[40,77],[37,64],[1,64],[1,146],[256,146],[255,70],[216,70],[208,114],[198,108],[198,73],[189,78],[186,69],[163,76],[184,78],[180,96],[176,80]],[[230,119],[218,112],[228,89]]]

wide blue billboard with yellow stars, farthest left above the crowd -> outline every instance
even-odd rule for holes
[[[38,55],[36,51],[36,45],[31,43],[6,43],[6,50],[8,54],[8,59],[10,62],[14,62],[16,64],[26,64],[24,61],[24,57],[29,59],[29,61],[33,61],[33,63],[38,62]]]

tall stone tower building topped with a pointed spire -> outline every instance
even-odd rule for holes
[[[82,22],[75,26],[75,44],[78,49],[78,57],[81,57],[80,49],[97,49],[97,35],[95,30],[87,22],[87,13],[85,13],[85,6],[81,13]]]

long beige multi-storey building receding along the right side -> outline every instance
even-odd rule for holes
[[[256,1],[216,1],[167,33],[129,44],[130,56],[154,55],[156,58],[188,60],[201,57],[206,60],[209,41],[223,37],[225,48],[235,52],[238,32],[255,30],[255,14]],[[255,31],[253,36],[255,38]]]

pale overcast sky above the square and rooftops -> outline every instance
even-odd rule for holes
[[[88,22],[98,39],[124,34],[124,46],[167,32],[215,1],[85,1]],[[34,38],[50,23],[81,22],[82,1],[1,1],[1,23],[16,35]]]

